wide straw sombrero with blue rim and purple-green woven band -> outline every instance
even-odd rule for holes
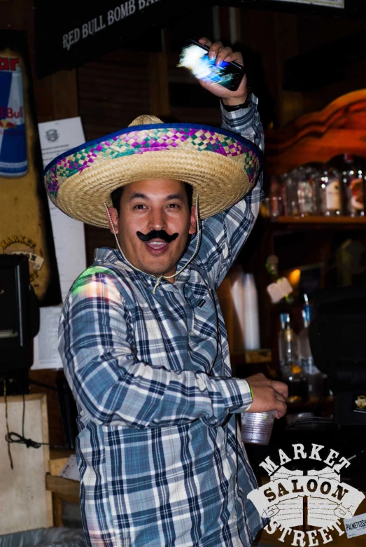
[[[86,142],[43,171],[50,200],[73,219],[108,228],[111,192],[133,181],[185,181],[199,193],[202,219],[222,212],[251,191],[262,153],[230,131],[139,116],[126,129]]]

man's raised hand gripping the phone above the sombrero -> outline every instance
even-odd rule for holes
[[[235,61],[244,66],[243,56],[241,53],[239,51],[233,51],[232,48],[224,48],[222,42],[212,43],[208,38],[200,38],[199,43],[202,43],[202,46],[208,46],[210,48],[209,57],[210,59],[214,59],[216,57],[216,64],[220,64],[223,61]],[[246,95],[248,95],[248,91],[246,89],[246,74],[244,74],[239,88],[237,88],[236,91],[230,91],[230,89],[224,88],[224,86],[219,83],[206,83],[202,80],[199,80],[199,83],[202,85],[202,88],[210,91],[213,95],[216,95],[216,97],[221,97],[221,99],[223,99],[223,103],[230,106],[245,102]]]

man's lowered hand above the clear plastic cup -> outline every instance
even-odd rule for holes
[[[253,374],[246,378],[253,391],[253,403],[246,412],[268,412],[276,410],[276,418],[286,414],[288,386],[283,382],[269,380],[264,374]]]

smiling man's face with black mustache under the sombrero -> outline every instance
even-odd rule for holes
[[[109,207],[109,212],[123,254],[132,265],[156,276],[176,272],[188,235],[196,231],[195,207],[188,207],[183,182],[153,179],[127,184],[119,216],[114,207]],[[178,235],[169,243],[159,237],[141,241],[137,233],[148,235],[152,230]]]

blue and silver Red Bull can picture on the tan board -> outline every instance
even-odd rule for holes
[[[23,176],[27,169],[20,60],[0,57],[0,176]]]

